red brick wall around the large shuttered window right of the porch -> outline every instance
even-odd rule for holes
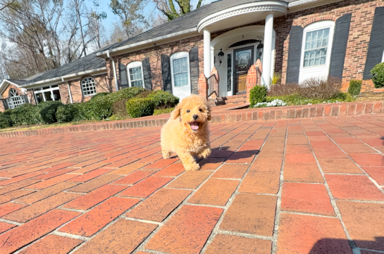
[[[319,20],[337,20],[347,13],[352,13],[352,20],[342,74],[343,88],[349,87],[349,80],[362,80],[373,13],[378,6],[384,6],[384,0],[346,0],[276,18],[273,24],[276,32],[275,72],[282,73],[282,82],[286,79],[290,27],[292,25],[305,27]],[[371,84],[372,82],[364,81],[361,91],[373,90],[374,87]]]

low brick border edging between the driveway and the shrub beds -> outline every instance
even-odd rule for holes
[[[373,101],[366,103],[332,103],[304,106],[287,106],[275,108],[245,108],[238,110],[218,110],[213,112],[211,122],[240,122],[249,120],[271,120],[287,118],[316,118],[338,115],[361,115],[384,113],[384,101]],[[159,115],[160,116],[160,115]],[[37,136],[57,134],[66,132],[91,132],[105,129],[129,129],[141,127],[154,127],[164,125],[169,114],[165,118],[149,116],[132,120],[113,122],[97,122],[94,124],[72,125],[56,128],[31,129],[20,132],[5,132],[0,138],[13,138],[18,136]],[[155,119],[154,119],[155,118]]]

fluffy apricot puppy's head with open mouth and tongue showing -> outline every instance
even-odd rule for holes
[[[203,125],[211,120],[211,110],[206,99],[193,94],[183,99],[176,106],[171,113],[171,117],[173,119],[180,117],[182,125],[190,127],[192,132],[199,132]]]

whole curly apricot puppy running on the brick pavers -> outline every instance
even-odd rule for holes
[[[202,96],[192,94],[178,103],[161,129],[163,158],[177,153],[185,170],[199,170],[193,155],[206,158],[211,154],[209,120],[211,109]]]

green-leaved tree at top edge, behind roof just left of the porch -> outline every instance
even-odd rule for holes
[[[203,0],[198,0],[196,8],[202,6]],[[168,20],[173,20],[175,18],[189,13],[192,9],[191,0],[154,0],[156,8],[161,11]],[[177,4],[179,11],[176,9],[175,4]]]

